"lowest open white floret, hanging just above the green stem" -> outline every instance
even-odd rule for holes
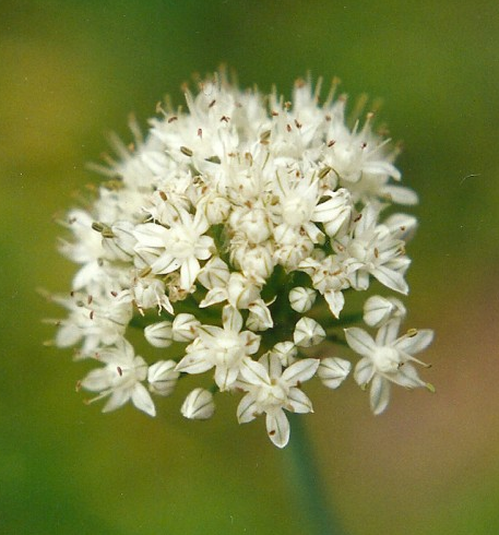
[[[308,381],[319,366],[319,360],[298,360],[283,372],[276,355],[264,355],[258,362],[251,359],[241,366],[241,385],[248,393],[237,407],[239,424],[251,421],[266,413],[266,431],[277,448],[289,440],[289,423],[283,408],[293,413],[311,413],[312,404],[298,388]]]

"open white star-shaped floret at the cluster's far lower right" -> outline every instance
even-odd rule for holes
[[[407,389],[426,387],[411,362],[426,366],[413,357],[431,343],[430,330],[411,330],[396,337],[400,322],[391,320],[378,331],[376,340],[363,329],[345,329],[348,345],[363,358],[355,367],[355,380],[360,387],[371,383],[370,404],[375,414],[382,413],[390,401],[390,382]]]

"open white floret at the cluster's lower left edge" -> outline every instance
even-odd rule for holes
[[[136,408],[156,415],[153,400],[142,384],[147,377],[147,365],[142,357],[135,357],[130,343],[118,342],[116,347],[102,352],[98,359],[106,366],[92,370],[81,381],[84,389],[99,393],[91,402],[109,396],[103,408],[103,413],[108,413],[131,400]]]

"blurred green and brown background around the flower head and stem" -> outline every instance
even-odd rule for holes
[[[373,417],[353,380],[310,384],[325,500],[351,535],[499,533],[498,48],[494,0],[1,0],[0,533],[312,533],[289,453],[236,400],[209,423],[175,395],[102,415],[74,393],[84,365],[43,345],[60,311],[36,289],[70,287],[54,216],[98,181],[85,164],[222,62],[241,86],[289,95],[310,71],[381,97],[420,194],[407,326],[436,330],[437,393]]]

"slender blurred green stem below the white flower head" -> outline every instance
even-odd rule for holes
[[[326,495],[317,464],[312,444],[302,423],[302,415],[288,414],[292,436],[286,447],[288,472],[299,507],[305,510],[317,535],[345,535],[333,509],[328,504]]]

